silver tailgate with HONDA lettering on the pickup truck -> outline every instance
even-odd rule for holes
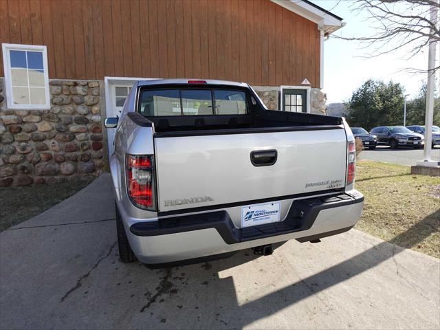
[[[252,151],[276,151],[254,166]],[[342,188],[347,137],[312,131],[155,137],[159,211],[251,202]]]

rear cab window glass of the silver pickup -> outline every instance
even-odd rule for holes
[[[245,91],[229,89],[146,89],[140,94],[142,115],[244,115]]]

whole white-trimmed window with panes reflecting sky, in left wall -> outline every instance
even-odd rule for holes
[[[2,44],[10,109],[50,109],[46,46]]]

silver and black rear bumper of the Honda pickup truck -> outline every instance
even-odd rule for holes
[[[289,239],[310,241],[349,230],[362,214],[364,196],[357,190],[296,200],[281,222],[236,228],[226,210],[153,222],[126,230],[133,252],[143,263],[170,263],[234,252]]]

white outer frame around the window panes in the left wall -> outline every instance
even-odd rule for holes
[[[2,43],[1,50],[3,54],[3,70],[5,73],[5,87],[6,87],[6,104],[9,109],[32,109],[32,110],[47,110],[50,109],[50,93],[49,93],[49,69],[47,66],[47,47],[44,45],[21,45],[16,43]],[[45,104],[14,104],[12,96],[12,77],[10,65],[10,50],[21,51],[39,51],[43,54],[43,70],[44,70],[44,85],[45,85]]]

